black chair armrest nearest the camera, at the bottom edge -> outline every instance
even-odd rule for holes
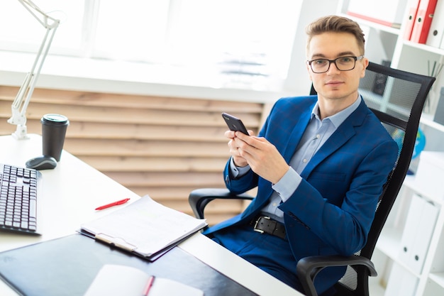
[[[316,275],[328,266],[347,266],[347,265],[362,265],[368,271],[370,276],[377,276],[377,271],[374,268],[372,261],[362,256],[309,256],[301,258],[296,265],[296,273],[301,281],[302,287],[308,296],[317,296],[314,287],[314,278]]]

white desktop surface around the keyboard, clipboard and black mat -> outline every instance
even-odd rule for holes
[[[28,140],[21,141],[0,136],[0,163],[24,167],[26,160],[41,155],[41,137],[29,136]],[[140,198],[66,151],[57,168],[41,172],[43,194],[39,200],[39,222],[43,235],[0,232],[0,251],[74,234],[85,221],[118,209],[95,211],[96,207],[125,197],[130,197],[130,202]],[[201,234],[192,236],[179,247],[259,295],[302,295]],[[0,295],[16,296],[16,293],[0,281]]]

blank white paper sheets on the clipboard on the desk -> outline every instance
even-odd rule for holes
[[[96,239],[150,257],[206,225],[205,219],[170,209],[145,195],[109,215],[82,224],[81,228]]]

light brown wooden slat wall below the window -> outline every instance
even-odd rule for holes
[[[0,86],[2,135],[16,129],[7,119],[17,92],[18,87]],[[67,151],[133,192],[192,214],[191,190],[224,187],[228,148],[221,112],[257,131],[263,109],[249,102],[35,89],[27,126],[28,133],[41,134],[43,114],[67,116]],[[207,219],[213,224],[243,207],[235,201],[210,204]]]

